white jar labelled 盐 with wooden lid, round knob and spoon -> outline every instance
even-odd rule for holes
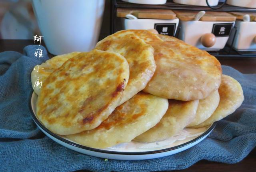
[[[179,39],[202,50],[223,49],[236,20],[227,12],[174,12],[180,19]]]

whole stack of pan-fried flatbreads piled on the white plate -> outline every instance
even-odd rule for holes
[[[90,52],[55,56],[41,78],[38,119],[79,144],[155,142],[232,114],[243,91],[206,51],[148,30],[122,30]]]

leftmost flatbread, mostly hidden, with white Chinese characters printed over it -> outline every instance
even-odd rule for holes
[[[49,60],[46,60],[46,62],[36,65],[34,69],[31,72],[31,83],[32,87],[34,89],[34,92],[36,92],[37,95],[40,95],[41,88],[40,86],[36,86],[36,80],[39,80],[40,82],[45,82],[46,78],[56,69],[58,69],[64,62],[66,62],[68,59],[76,56],[80,52],[72,52],[69,54],[62,54],[55,56]]]

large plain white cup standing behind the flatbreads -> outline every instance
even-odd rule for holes
[[[32,0],[51,54],[90,51],[98,41],[105,0]],[[41,36],[41,35],[40,35]]]

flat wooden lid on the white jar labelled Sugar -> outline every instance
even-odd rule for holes
[[[170,20],[176,18],[176,14],[172,10],[117,8],[116,16],[125,17],[127,14],[132,14],[137,18],[154,18]]]

